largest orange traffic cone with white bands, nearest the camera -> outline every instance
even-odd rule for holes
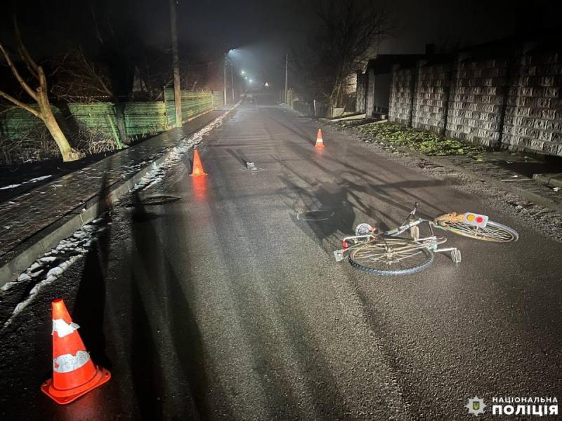
[[[111,373],[96,366],[84,347],[62,299],[51,303],[53,309],[53,378],[41,385],[41,391],[56,403],[70,403],[110,380]]]

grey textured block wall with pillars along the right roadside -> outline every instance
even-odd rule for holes
[[[562,156],[562,49],[556,44],[473,48],[445,63],[395,66],[390,98],[389,121]]]

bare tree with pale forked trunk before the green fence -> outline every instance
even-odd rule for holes
[[[32,88],[27,81],[21,76],[18,68],[15,66],[14,62],[12,61],[8,51],[6,48],[0,43],[0,52],[4,55],[4,59],[8,63],[8,67],[10,67],[11,72],[15,79],[18,81],[22,89],[30,95],[30,97],[37,103],[37,108],[32,107],[25,102],[22,102],[8,93],[4,91],[0,91],[0,97],[8,100],[13,105],[25,109],[27,112],[30,112],[38,119],[41,119],[45,123],[49,133],[53,136],[56,144],[58,145],[58,149],[60,150],[60,155],[63,156],[63,161],[75,161],[80,158],[79,152],[73,149],[70,146],[65,134],[62,130],[60,130],[60,126],[58,125],[55,116],[53,114],[53,109],[51,108],[51,103],[48,100],[48,86],[47,86],[47,79],[45,76],[45,72],[43,67],[37,65],[36,62],[31,58],[30,53],[27,52],[27,48],[23,45],[20,30],[18,28],[17,22],[14,19],[14,27],[15,27],[15,39],[18,48],[18,53],[20,55],[21,60],[25,63],[28,72],[32,75],[33,79],[35,79],[38,83],[37,88]]]

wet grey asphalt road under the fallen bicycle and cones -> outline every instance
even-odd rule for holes
[[[117,205],[89,255],[11,327],[3,419],[464,420],[475,395],[485,417],[494,396],[562,398],[560,243],[329,128],[315,149],[317,123],[258,104],[200,145],[207,177],[190,178],[185,155]],[[396,226],[414,201],[424,216],[485,213],[520,240],[447,234],[462,263],[437,255],[410,276],[334,261],[358,222]],[[329,218],[299,215],[311,210]],[[112,370],[65,407],[39,392],[61,290]]]

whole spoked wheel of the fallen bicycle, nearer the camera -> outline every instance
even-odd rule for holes
[[[420,272],[433,262],[426,243],[390,236],[377,236],[349,252],[349,264],[374,275],[407,275]]]

